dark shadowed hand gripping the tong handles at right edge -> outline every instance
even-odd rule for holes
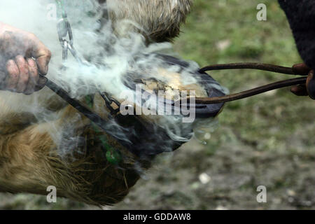
[[[306,64],[295,64],[293,66],[293,72],[295,74],[307,75],[307,82],[305,85],[295,85],[291,87],[291,92],[297,96],[309,96],[311,99],[315,99],[315,76],[314,70],[311,70]]]

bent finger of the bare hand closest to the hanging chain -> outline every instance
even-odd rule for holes
[[[38,40],[36,36],[33,36],[32,53],[31,56],[36,59],[39,73],[45,75],[48,73],[48,64],[51,58],[51,52],[46,46]]]

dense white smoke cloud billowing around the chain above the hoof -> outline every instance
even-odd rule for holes
[[[69,52],[66,62],[68,69],[59,76],[62,65],[62,48],[57,36],[57,20],[54,18],[53,0],[1,0],[0,20],[38,36],[52,51],[48,78],[64,85],[73,97],[80,97],[98,90],[117,95],[127,90],[122,76],[127,72],[141,71],[149,77],[156,77],[162,60],[152,54],[171,48],[169,43],[146,46],[141,34],[130,33],[125,38],[117,38],[111,30],[111,22],[100,31],[99,19],[102,10],[95,0],[67,0],[65,8],[72,26],[74,45],[82,56],[90,60],[88,66],[78,66]],[[60,12],[57,9],[57,17]],[[96,32],[98,30],[98,32]],[[105,47],[104,47],[105,46]],[[141,54],[141,55],[140,55]],[[145,55],[146,54],[146,55]],[[137,61],[135,57],[137,56]],[[163,64],[165,68],[165,64]],[[172,71],[179,67],[169,67]],[[196,80],[188,72],[195,71],[197,64],[181,72],[187,84]]]

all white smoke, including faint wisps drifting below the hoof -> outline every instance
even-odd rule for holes
[[[116,98],[119,98],[122,92],[127,92],[127,95],[136,97],[136,92],[130,84],[131,80],[144,78],[167,83],[169,77],[160,75],[161,68],[171,73],[180,73],[179,80],[182,85],[198,83],[199,80],[193,76],[198,69],[196,63],[190,62],[185,68],[166,63],[158,52],[171,51],[170,43],[146,45],[144,36],[132,31],[126,31],[124,36],[117,36],[111,21],[104,24],[99,22],[106,6],[101,7],[93,0],[66,1],[65,8],[73,30],[74,46],[85,63],[78,64],[69,52],[69,58],[63,64],[62,47],[56,29],[58,20],[52,16],[54,4],[55,1],[52,0],[1,0],[0,21],[32,32],[43,41],[52,52],[48,78],[67,90],[71,97],[81,99],[87,94],[97,92],[108,92]],[[57,11],[56,15],[59,17],[60,12]],[[141,25],[130,21],[126,23],[141,29]],[[66,66],[66,69],[60,72],[62,65]],[[213,87],[223,91],[215,82]],[[38,102],[36,96],[38,97],[38,94],[34,94],[32,104],[22,106],[29,108],[37,116],[41,114],[43,120],[57,118],[55,113],[48,113],[40,106],[34,106]],[[134,103],[142,106],[139,102]],[[184,124],[182,116],[158,116],[149,122],[156,125],[156,130],[152,130],[152,133],[156,134],[155,141],[165,142],[160,145],[161,151],[171,151],[171,141],[183,143],[193,136],[192,125]],[[166,141],[158,132],[160,128],[167,133],[169,140]],[[106,129],[117,139],[128,141],[130,138],[125,134],[126,130],[115,122],[109,122]],[[127,130],[127,133],[137,135],[135,130]],[[55,139],[60,138],[62,137],[58,136]],[[153,154],[156,143],[146,142],[143,148]]]

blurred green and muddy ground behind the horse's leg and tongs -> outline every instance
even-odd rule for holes
[[[267,21],[258,21],[258,3]],[[206,66],[302,62],[274,0],[195,0],[174,42],[181,57]],[[263,71],[214,71],[230,92],[288,78]],[[207,141],[161,155],[123,202],[103,209],[315,209],[315,102],[288,88],[230,102]],[[210,130],[209,130],[210,131]],[[209,138],[210,137],[210,138]],[[258,203],[266,186],[267,203]],[[0,194],[0,209],[100,209],[45,196]]]

